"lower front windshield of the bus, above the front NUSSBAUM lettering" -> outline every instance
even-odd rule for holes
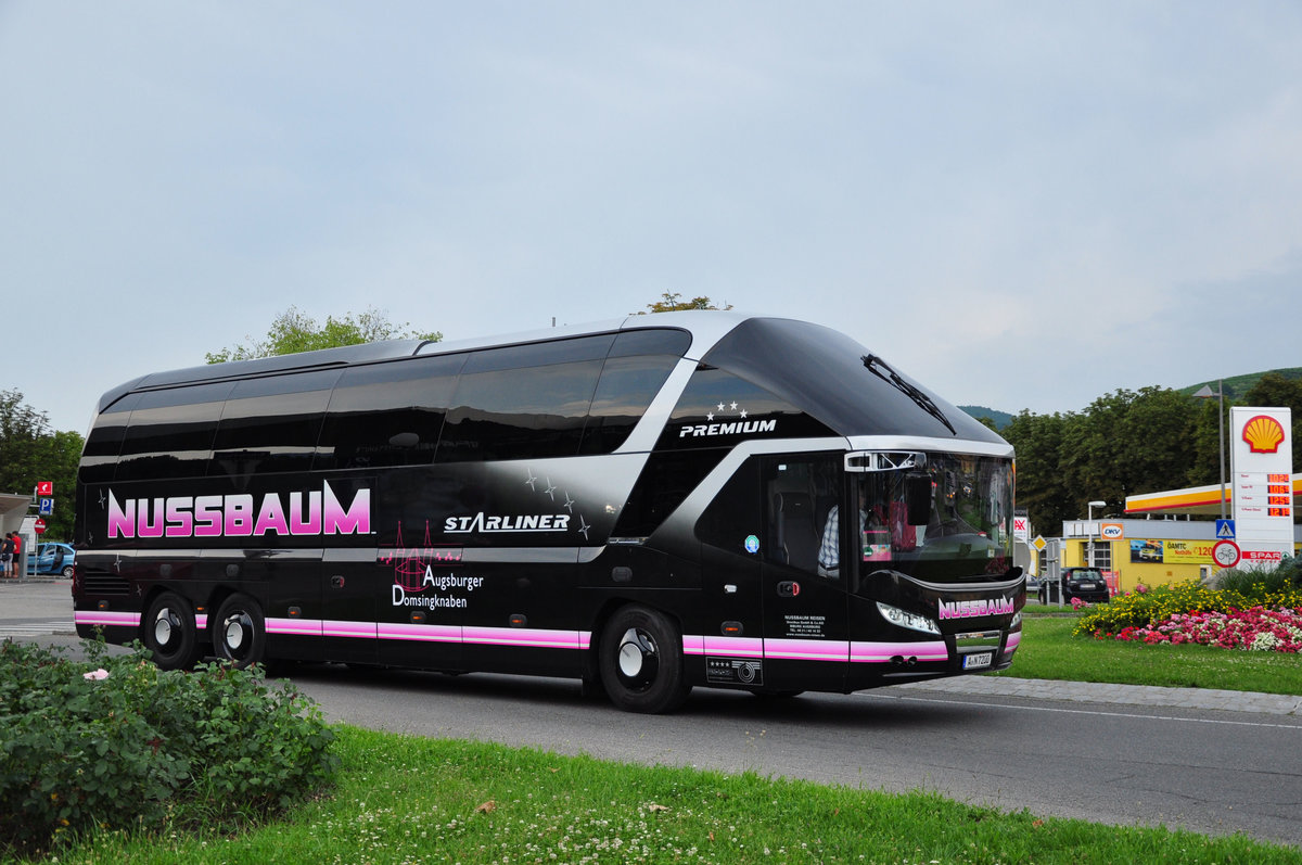
[[[872,453],[852,455],[848,465],[859,502],[862,574],[888,569],[953,582],[1012,567],[1012,460]]]

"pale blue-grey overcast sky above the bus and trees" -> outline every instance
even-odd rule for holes
[[[664,292],[1075,412],[1302,366],[1302,5],[0,0],[0,390]]]

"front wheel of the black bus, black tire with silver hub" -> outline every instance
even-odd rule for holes
[[[622,607],[605,623],[598,646],[602,684],[625,711],[659,714],[684,703],[682,636],[663,612]]]

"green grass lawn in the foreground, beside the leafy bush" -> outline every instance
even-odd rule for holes
[[[336,789],[238,835],[107,835],[59,862],[1299,862],[1243,838],[342,728]]]

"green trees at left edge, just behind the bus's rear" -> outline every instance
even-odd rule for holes
[[[18,391],[0,391],[0,491],[27,495],[38,481],[53,481],[47,538],[72,538],[82,444],[77,432],[52,431],[48,416],[23,403]]]

